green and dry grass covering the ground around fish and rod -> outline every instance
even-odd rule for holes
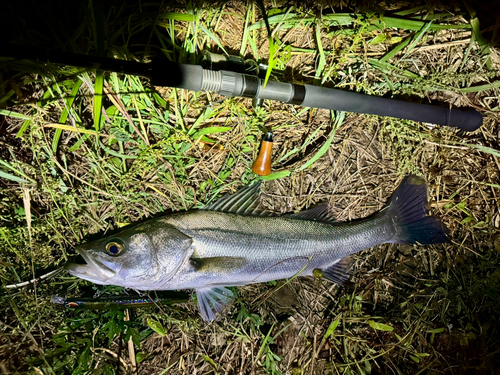
[[[400,176],[417,173],[452,238],[364,251],[341,288],[303,278],[238,288],[211,325],[194,298],[137,309],[129,321],[121,311],[60,309],[52,295],[123,293],[65,273],[3,288],[7,371],[123,373],[131,356],[139,373],[165,374],[498,367],[498,68],[491,65],[498,50],[477,34],[478,18],[464,21],[470,10],[353,14],[265,3],[264,16],[259,3],[89,4],[40,10],[41,24],[12,31],[28,44],[135,61],[196,63],[204,49],[238,54],[271,61],[270,77],[473,105],[484,110],[485,125],[462,134],[281,103],[254,110],[247,99],[155,88],[138,77],[0,59],[3,287],[62,266],[93,236],[201,208],[259,178],[251,166],[264,129],[275,135],[274,173],[262,179],[270,180],[276,211],[330,201],[341,221],[367,216]],[[280,304],[283,295],[291,306]]]

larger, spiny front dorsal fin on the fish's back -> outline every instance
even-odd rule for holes
[[[260,204],[261,181],[247,185],[234,194],[226,194],[218,201],[208,204],[204,210],[230,212],[239,215],[275,216],[273,212],[266,211]]]

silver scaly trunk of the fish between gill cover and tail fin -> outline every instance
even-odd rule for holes
[[[394,232],[383,218],[331,224],[216,211],[177,214],[163,223],[193,239],[192,253],[186,253],[191,262],[183,264],[166,289],[212,283],[240,286],[286,279],[299,272],[311,276],[314,269],[327,269],[359,250],[391,242]],[[203,267],[206,259],[220,264]]]

